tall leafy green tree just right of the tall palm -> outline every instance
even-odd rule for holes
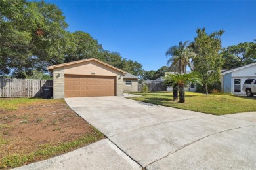
[[[215,31],[207,34],[205,28],[196,30],[194,39],[194,71],[202,76],[202,84],[208,95],[207,85],[219,81],[223,59],[219,52],[221,50],[221,35],[224,31]]]

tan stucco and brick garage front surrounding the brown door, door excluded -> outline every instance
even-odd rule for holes
[[[65,75],[114,76],[116,77],[116,95],[123,96],[123,76],[125,71],[108,65],[98,59],[84,59],[48,67],[53,72],[53,98],[65,97]]]

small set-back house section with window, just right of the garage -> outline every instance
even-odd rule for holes
[[[131,73],[126,73],[123,76],[123,91],[124,92],[138,92],[138,77]]]

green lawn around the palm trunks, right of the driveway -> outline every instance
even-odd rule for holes
[[[173,92],[131,93],[142,95],[142,97],[127,97],[128,99],[207,114],[223,115],[256,111],[256,97],[250,98],[234,95],[206,96],[202,93],[186,92],[186,102],[179,103],[178,101],[173,101]]]

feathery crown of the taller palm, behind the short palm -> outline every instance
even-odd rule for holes
[[[179,46],[171,46],[165,53],[166,57],[171,56],[168,59],[167,65],[170,65],[169,69],[182,74],[186,73],[186,67],[192,68],[190,59],[194,58],[196,54],[188,48],[188,41],[179,42]]]

